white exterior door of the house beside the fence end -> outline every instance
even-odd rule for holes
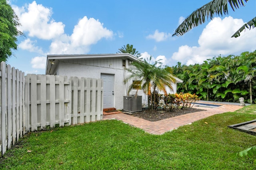
[[[114,107],[114,75],[101,74],[103,80],[103,108]]]

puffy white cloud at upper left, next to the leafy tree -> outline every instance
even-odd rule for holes
[[[21,23],[20,30],[28,32],[28,36],[43,40],[51,40],[64,33],[65,25],[62,22],[55,22],[52,16],[52,9],[36,4],[33,1],[26,7],[18,8],[13,6]]]

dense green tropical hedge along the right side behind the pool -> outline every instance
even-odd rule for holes
[[[256,103],[256,50],[240,55],[219,55],[202,64],[173,66],[183,80],[177,91],[196,94],[201,100]]]

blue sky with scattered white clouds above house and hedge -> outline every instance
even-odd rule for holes
[[[181,37],[179,23],[210,0],[10,0],[26,35],[7,63],[27,73],[45,74],[48,54],[116,53],[127,43],[142,57],[164,65],[202,63],[218,55],[256,49],[256,29],[230,38],[256,16],[256,0],[216,17]]]

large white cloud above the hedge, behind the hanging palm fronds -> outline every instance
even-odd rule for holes
[[[204,28],[198,40],[198,46],[182,45],[173,53],[172,59],[186,65],[202,63],[218,55],[240,54],[244,51],[253,51],[256,47],[256,29],[246,30],[238,38],[231,36],[244,24],[242,19],[231,16],[214,18]]]

